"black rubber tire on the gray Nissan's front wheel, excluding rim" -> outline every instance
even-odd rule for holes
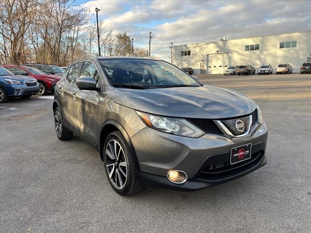
[[[116,183],[114,183],[112,180],[113,178],[109,178],[109,173],[108,173],[108,168],[107,168],[107,153],[106,153],[106,149],[108,147],[108,143],[110,143],[112,140],[117,141],[123,150],[123,155],[126,158],[126,180],[125,183],[123,184],[124,186],[121,188],[117,188]],[[120,156],[120,155],[119,155]],[[115,159],[117,161],[117,159]],[[111,162],[110,162],[111,163]],[[115,131],[110,133],[104,143],[104,164],[105,164],[105,171],[106,171],[106,175],[107,175],[107,179],[111,185],[111,187],[113,188],[113,190],[115,190],[118,194],[120,194],[121,196],[130,196],[133,194],[136,194],[138,192],[140,192],[143,187],[144,184],[140,181],[139,177],[137,176],[137,171],[136,171],[136,166],[135,166],[135,161],[133,158],[133,154],[130,150],[129,145],[127,144],[123,134],[120,131]],[[109,166],[109,165],[108,165]],[[110,170],[110,174],[114,173],[114,170],[116,170],[116,176],[117,176],[117,170],[114,168],[115,166],[113,166],[113,168]],[[120,169],[120,166],[119,166]],[[113,175],[112,175],[113,176]],[[125,177],[125,176],[124,176]],[[119,177],[120,179],[120,177]],[[119,182],[120,183],[120,182]],[[116,185],[116,186],[115,186]],[[121,186],[121,184],[120,184]]]

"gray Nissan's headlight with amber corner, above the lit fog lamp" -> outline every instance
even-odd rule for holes
[[[183,118],[156,116],[138,111],[136,112],[146,126],[154,130],[185,137],[200,137],[205,134],[202,130]]]

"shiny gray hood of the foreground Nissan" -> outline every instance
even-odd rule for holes
[[[204,85],[156,89],[123,89],[113,92],[116,103],[162,116],[219,119],[243,116],[256,109],[245,95]]]

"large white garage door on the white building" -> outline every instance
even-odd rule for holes
[[[209,74],[223,74],[228,66],[228,53],[208,54],[208,73]]]

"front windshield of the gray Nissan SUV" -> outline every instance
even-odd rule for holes
[[[109,82],[121,88],[165,88],[201,86],[188,74],[164,61],[101,59]],[[112,71],[112,72],[111,72]]]

